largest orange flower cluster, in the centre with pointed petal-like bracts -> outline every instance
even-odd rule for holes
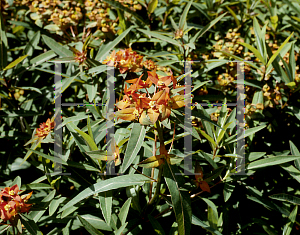
[[[143,74],[136,79],[127,80],[132,84],[129,88],[125,84],[123,99],[116,106],[120,109],[116,117],[127,121],[138,120],[143,125],[154,124],[157,120],[163,121],[171,115],[171,109],[184,106],[184,96],[175,95],[169,88],[173,82],[176,87],[176,79],[172,72],[171,76],[158,77],[156,70],[148,71],[146,81],[142,80]],[[155,85],[155,92],[150,94],[148,88]],[[141,92],[144,89],[146,92]]]

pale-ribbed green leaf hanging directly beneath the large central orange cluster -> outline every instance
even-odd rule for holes
[[[121,172],[124,173],[137,157],[146,135],[146,129],[140,123],[134,123],[127,144]]]

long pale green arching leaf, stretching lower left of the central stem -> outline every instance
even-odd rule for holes
[[[149,178],[143,175],[122,175],[110,178],[108,180],[100,181],[92,186],[84,189],[77,196],[71,199],[64,207],[59,211],[62,212],[67,208],[75,205],[76,203],[84,200],[85,198],[92,196],[96,193],[106,192],[112,189],[118,189],[123,187],[128,187],[131,185],[142,185],[148,182]]]

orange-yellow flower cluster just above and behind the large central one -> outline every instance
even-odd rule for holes
[[[139,72],[143,66],[149,70],[156,68],[156,65],[152,60],[146,60],[143,62],[143,56],[138,55],[131,48],[120,50],[118,52],[113,51],[103,64],[114,66],[120,70],[120,73],[126,72]]]

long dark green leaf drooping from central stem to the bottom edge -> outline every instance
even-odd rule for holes
[[[166,162],[163,167],[163,173],[171,194],[175,217],[178,223],[178,233],[179,235],[187,235],[190,234],[191,231],[191,201],[189,194],[180,190],[173,169],[174,168]]]

